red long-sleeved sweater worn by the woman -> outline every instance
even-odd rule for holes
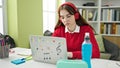
[[[76,32],[65,33],[65,27],[60,26],[54,31],[52,36],[66,38],[67,50],[68,52],[72,52],[73,59],[81,59],[82,58],[81,48],[82,48],[82,42],[84,41],[85,32],[90,33],[90,41],[92,43],[92,58],[99,58],[100,52],[99,52],[98,44],[94,37],[93,30],[91,29],[90,26],[80,26],[79,33]]]

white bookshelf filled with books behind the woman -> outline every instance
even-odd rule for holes
[[[120,0],[62,0],[67,1],[77,6],[98,34],[120,35]]]

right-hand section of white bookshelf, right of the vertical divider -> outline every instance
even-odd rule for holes
[[[120,35],[120,0],[101,0],[101,34]]]

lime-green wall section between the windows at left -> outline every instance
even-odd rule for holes
[[[8,0],[8,34],[17,46],[29,48],[31,34],[42,35],[42,0]]]

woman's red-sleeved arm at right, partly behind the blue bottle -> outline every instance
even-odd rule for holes
[[[92,43],[92,58],[100,58],[99,47],[98,47],[97,41],[95,39],[95,35],[94,35],[93,30],[90,27],[88,27],[88,28],[86,27],[86,30],[83,30],[82,33],[85,33],[85,32],[90,33],[90,41]],[[81,53],[80,50],[74,51],[74,52],[71,52],[71,53],[72,53],[72,58],[73,59],[81,59],[82,58],[82,53]]]

